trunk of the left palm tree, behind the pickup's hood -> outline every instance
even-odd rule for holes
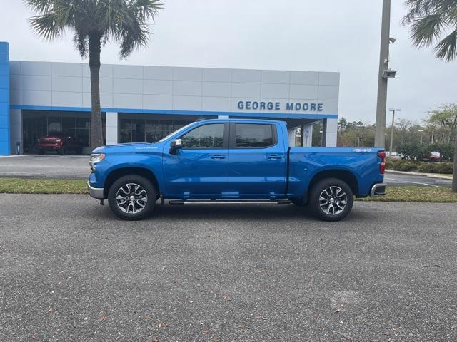
[[[100,51],[101,36],[92,33],[89,36],[89,68],[91,69],[91,147],[103,145],[103,130],[100,110]]]

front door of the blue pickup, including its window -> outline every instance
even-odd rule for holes
[[[229,125],[224,123],[201,125],[184,134],[183,148],[164,156],[167,195],[221,198],[227,190],[228,135]]]

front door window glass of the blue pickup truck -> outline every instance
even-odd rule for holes
[[[222,148],[224,123],[203,125],[181,137],[183,148]]]

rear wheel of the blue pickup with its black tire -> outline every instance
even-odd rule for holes
[[[326,198],[327,202],[321,202],[321,195]],[[343,202],[346,202],[346,204]],[[308,197],[311,213],[323,221],[339,221],[343,219],[351,212],[353,202],[354,197],[351,187],[346,182],[338,180],[338,178],[319,180],[311,188]]]

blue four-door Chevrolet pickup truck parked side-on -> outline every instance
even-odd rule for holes
[[[290,147],[288,141],[282,121],[197,120],[155,144],[96,148],[89,194],[101,204],[108,199],[129,220],[169,199],[293,203],[326,221],[346,217],[354,196],[385,194],[383,149]]]

